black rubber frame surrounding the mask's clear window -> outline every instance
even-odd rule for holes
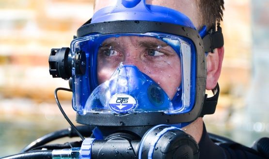
[[[206,90],[206,62],[203,40],[196,30],[161,22],[152,21],[111,21],[95,24],[86,24],[79,28],[77,37],[83,37],[91,33],[111,34],[111,33],[146,33],[146,32],[164,32],[189,38],[196,50],[196,95],[195,105],[188,113],[165,114],[163,112],[141,112],[130,113],[125,116],[116,114],[91,113],[78,114],[77,122],[85,125],[95,126],[150,126],[158,124],[176,124],[191,122],[200,116],[203,116],[203,106],[205,102]],[[215,107],[212,107],[215,111]],[[208,109],[208,108],[207,108]],[[209,111],[206,111],[209,112]],[[210,111],[213,112],[213,111]],[[139,119],[139,120],[138,120]],[[108,122],[109,121],[109,122]]]

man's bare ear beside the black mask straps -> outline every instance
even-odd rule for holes
[[[212,90],[217,85],[221,75],[224,47],[216,48],[214,53],[209,52],[206,56],[207,78],[206,89]]]

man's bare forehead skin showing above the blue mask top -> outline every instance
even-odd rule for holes
[[[199,24],[198,0],[146,0],[146,4],[172,8],[188,16],[197,28]],[[95,0],[95,12],[107,6],[114,6],[117,0]]]

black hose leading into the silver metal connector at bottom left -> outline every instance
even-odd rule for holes
[[[24,152],[1,159],[52,159],[52,150]]]

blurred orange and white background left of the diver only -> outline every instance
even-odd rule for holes
[[[93,0],[0,0],[0,157],[68,127],[54,99],[68,87],[48,72],[51,48],[70,47],[93,14]],[[75,122],[71,93],[61,104]]]

